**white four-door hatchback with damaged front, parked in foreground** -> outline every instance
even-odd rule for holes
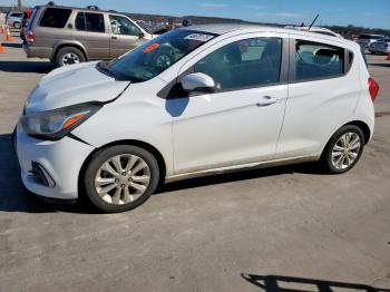
[[[123,212],[159,182],[310,160],[344,173],[372,136],[378,90],[352,41],[194,26],[48,74],[14,144],[32,193]]]

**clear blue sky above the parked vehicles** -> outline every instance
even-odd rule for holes
[[[26,6],[49,0],[23,0]],[[55,0],[57,4],[86,7],[123,12],[169,16],[227,17],[259,22],[310,25],[316,13],[316,25],[354,25],[390,29],[390,0]],[[0,6],[17,0],[0,0]]]

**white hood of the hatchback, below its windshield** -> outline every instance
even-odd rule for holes
[[[27,114],[84,104],[107,103],[119,96],[128,81],[117,81],[98,71],[95,62],[66,66],[45,76],[31,91]]]

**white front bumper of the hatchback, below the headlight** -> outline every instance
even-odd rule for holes
[[[69,137],[57,142],[36,139],[28,136],[19,125],[13,145],[21,179],[30,192],[55,199],[78,197],[79,173],[84,162],[95,149],[92,146]],[[49,184],[37,179],[37,171],[48,178]]]

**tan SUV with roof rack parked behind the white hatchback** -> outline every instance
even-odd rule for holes
[[[153,38],[125,14],[57,6],[36,7],[25,33],[27,57],[58,67],[117,58]]]

